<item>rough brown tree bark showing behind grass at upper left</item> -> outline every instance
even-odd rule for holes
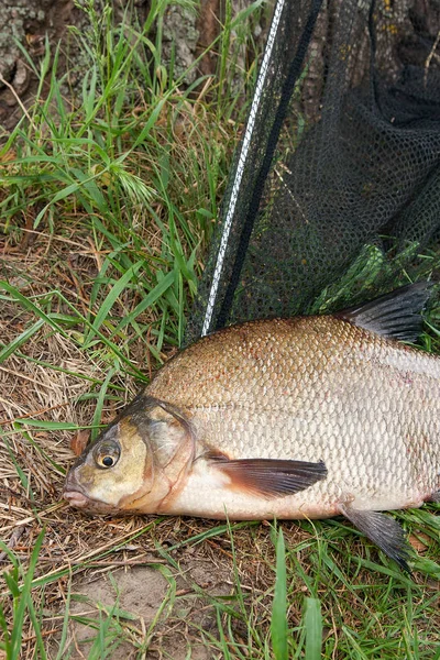
[[[197,12],[189,12],[176,4],[167,7],[163,23],[163,62],[166,65],[174,54],[175,78],[191,67],[221,32],[224,23],[224,2],[226,0],[200,0]],[[95,7],[97,4],[103,6],[105,0],[96,0]],[[141,23],[148,12],[148,0],[130,2]],[[232,16],[249,4],[250,0],[232,0]],[[128,2],[113,0],[112,6],[114,21],[118,22]],[[254,40],[261,41],[260,23],[267,23],[267,20],[263,14],[260,16],[262,18],[256,21],[251,19],[253,25],[250,32],[253,33]],[[22,116],[21,103],[25,106],[36,89],[35,76],[19,44],[38,67],[38,61],[44,56],[46,38],[53,47],[62,40],[62,52],[65,52],[68,38],[67,25],[75,25],[82,32],[87,29],[87,14],[75,7],[73,0],[0,0],[1,25],[0,127],[9,131]],[[245,69],[246,62],[253,59],[255,53],[252,51],[250,54],[246,42],[241,42],[234,36],[237,35],[232,33],[231,57],[232,50],[235,48],[233,51],[235,64]],[[189,85],[202,75],[213,75],[217,72],[220,48],[221,43],[218,41],[216,47],[202,55],[197,66],[190,68],[184,84]],[[78,48],[69,43],[68,51],[69,66],[72,64],[75,66],[76,53],[79,54]],[[81,76],[78,75],[78,84],[80,80]]]

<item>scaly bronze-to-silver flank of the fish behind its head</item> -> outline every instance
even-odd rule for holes
[[[278,517],[332,515],[344,492],[371,509],[414,506],[440,487],[439,359],[333,317],[215,333],[146,394],[185,409],[230,459],[324,461],[326,481],[271,502]]]

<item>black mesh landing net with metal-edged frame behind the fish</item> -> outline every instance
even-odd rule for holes
[[[187,342],[358,302],[438,238],[439,19],[438,0],[278,1]]]

